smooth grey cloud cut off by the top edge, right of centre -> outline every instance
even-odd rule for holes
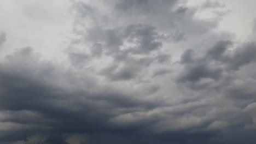
[[[139,1],[118,2],[116,7],[119,15],[121,17],[127,17],[126,19],[132,22],[150,23],[152,26],[166,29],[166,31],[170,31],[170,29],[182,29],[185,35],[191,33],[205,33],[208,29],[216,26],[216,22],[213,21],[209,22],[194,19],[196,9],[177,6],[179,3],[182,3],[182,1],[143,1],[143,3],[139,4],[138,2]],[[174,10],[171,11],[170,9]],[[135,14],[137,18],[134,17]],[[143,19],[140,20],[139,17],[143,17]]]

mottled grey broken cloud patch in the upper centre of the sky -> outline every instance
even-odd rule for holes
[[[95,35],[96,34],[96,35]],[[95,35],[95,36],[92,36]],[[82,35],[83,36],[83,35]],[[150,64],[170,61],[170,55],[161,52],[163,37],[153,26],[129,25],[115,29],[91,28],[85,34],[85,39],[92,41],[91,58],[107,56],[120,63],[109,65],[100,71],[112,81],[135,79],[141,70],[149,69]],[[128,44],[129,43],[129,44]],[[155,56],[150,53],[157,52]],[[73,64],[83,63],[87,56],[69,53]]]

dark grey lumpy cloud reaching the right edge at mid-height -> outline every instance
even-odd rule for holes
[[[208,49],[204,56],[199,57],[194,50],[188,49],[181,55],[181,63],[184,65],[183,73],[179,75],[179,82],[196,82],[202,78],[218,80],[223,71],[238,70],[256,58],[256,46],[254,43],[245,43],[233,51],[229,48],[232,42],[218,41]]]

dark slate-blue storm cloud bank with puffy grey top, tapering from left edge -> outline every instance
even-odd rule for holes
[[[33,65],[34,63],[36,65]],[[28,64],[28,67],[14,70],[13,65],[17,64]],[[1,112],[9,111],[9,118],[1,119],[1,122],[36,126],[31,128],[24,125],[24,128],[17,131],[17,135],[20,133],[43,134],[48,131],[50,136],[43,140],[45,143],[66,143],[61,138],[65,133],[120,133],[123,136],[127,133],[130,135],[130,131],[143,130],[152,122],[133,125],[134,127],[131,125],[128,129],[119,128],[115,123],[109,122],[118,114],[115,111],[118,112],[118,109],[125,109],[125,111],[129,111],[129,109],[131,111],[132,109],[147,110],[161,105],[156,101],[139,102],[138,99],[128,98],[125,94],[112,92],[112,90],[102,93],[100,91],[91,93],[89,89],[69,92],[65,88],[49,85],[43,79],[53,79],[52,75],[57,71],[49,69],[48,64],[44,65],[44,62],[38,59],[37,53],[33,52],[31,47],[21,48],[13,55],[9,55],[8,62],[2,63],[1,67],[4,69],[0,71],[0,108]],[[34,68],[37,68],[37,71]],[[68,79],[67,76],[64,77]],[[56,82],[56,77],[53,81]],[[14,135],[15,133],[14,130],[10,134]],[[51,133],[60,133],[61,135],[56,136]],[[9,141],[14,140],[10,139]],[[24,141],[24,143],[26,142]]]

